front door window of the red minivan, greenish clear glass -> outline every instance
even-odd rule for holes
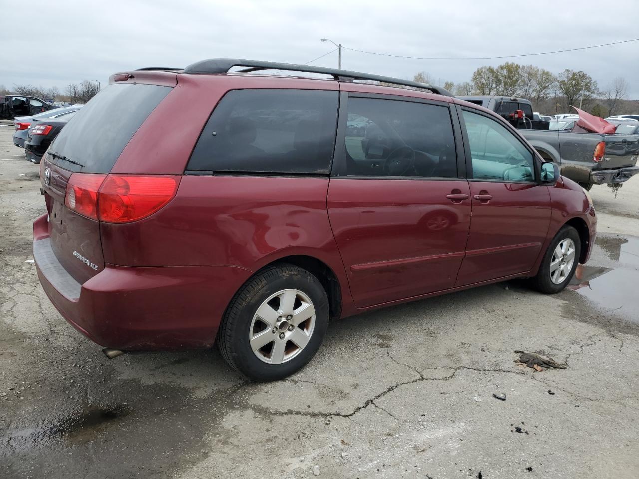
[[[532,153],[504,125],[464,110],[474,179],[534,181]]]

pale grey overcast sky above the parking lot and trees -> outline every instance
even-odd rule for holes
[[[5,0],[3,11],[22,10]],[[612,11],[606,10],[606,5]],[[62,0],[38,19],[3,22],[0,84],[58,86],[142,66],[183,67],[213,57],[305,63],[335,47],[413,57],[486,57],[561,50],[639,38],[639,1],[204,1]],[[22,10],[24,11],[24,10]],[[35,13],[35,12],[34,12]],[[6,15],[5,15],[6,16]],[[18,18],[18,17],[15,17]],[[346,70],[435,82],[470,80],[504,61],[558,73],[589,73],[600,88],[615,77],[639,98],[639,42],[504,60],[423,61],[343,51]],[[337,52],[312,63],[337,68]]]

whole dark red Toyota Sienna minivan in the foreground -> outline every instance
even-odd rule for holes
[[[113,75],[40,172],[33,252],[62,316],[111,356],[217,342],[259,381],[303,367],[329,319],[518,277],[557,293],[596,231],[493,112],[302,65]]]

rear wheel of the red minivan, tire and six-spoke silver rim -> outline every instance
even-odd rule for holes
[[[328,296],[318,278],[297,266],[261,271],[235,294],[217,335],[233,369],[275,381],[302,369],[328,328]]]

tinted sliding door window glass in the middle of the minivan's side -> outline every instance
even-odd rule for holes
[[[345,148],[348,176],[457,176],[445,106],[350,98]]]

